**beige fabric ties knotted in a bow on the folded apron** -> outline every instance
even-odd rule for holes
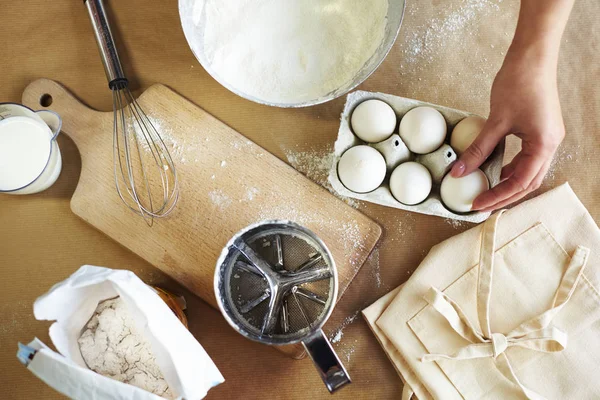
[[[506,355],[506,350],[515,346],[544,353],[560,352],[566,349],[568,335],[560,329],[550,326],[550,323],[573,295],[587,263],[589,250],[582,246],[576,249],[549,310],[524,322],[507,334],[491,332],[490,299],[494,268],[493,252],[495,249],[495,232],[502,214],[503,211],[492,216],[486,221],[482,230],[477,283],[477,311],[481,330],[467,318],[456,302],[438,289],[430,288],[424,296],[427,303],[444,317],[452,329],[469,344],[450,355],[426,354],[421,358],[421,361],[494,358],[498,370],[515,382],[528,399],[542,400],[544,399],[543,396],[521,384]]]

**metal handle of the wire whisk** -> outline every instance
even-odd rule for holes
[[[100,50],[100,57],[102,58],[102,64],[104,65],[104,71],[108,79],[108,86],[112,90],[122,89],[127,86],[127,78],[125,78],[125,74],[123,73],[123,67],[121,66],[115,41],[110,31],[104,4],[102,0],[84,0],[84,4],[92,21],[96,42]]]

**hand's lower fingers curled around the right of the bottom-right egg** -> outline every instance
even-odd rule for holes
[[[547,159],[543,156],[536,154],[529,155],[523,152],[519,153],[519,159],[514,166],[514,173],[512,176],[487,192],[480,194],[473,202],[473,208],[485,210],[493,208],[495,205],[500,204],[521,192],[526,192],[526,195],[531,191],[531,187],[538,185],[536,178],[538,178],[540,172],[545,167],[546,162]],[[541,179],[543,179],[544,175],[545,172],[541,176]],[[541,180],[539,181],[539,184],[541,184]]]

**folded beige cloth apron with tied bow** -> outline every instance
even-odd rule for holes
[[[363,314],[403,398],[600,398],[600,229],[568,184],[434,246]]]

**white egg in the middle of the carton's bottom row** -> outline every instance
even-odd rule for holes
[[[400,203],[409,206],[419,204],[431,192],[431,174],[416,162],[400,164],[390,177],[390,190]]]

